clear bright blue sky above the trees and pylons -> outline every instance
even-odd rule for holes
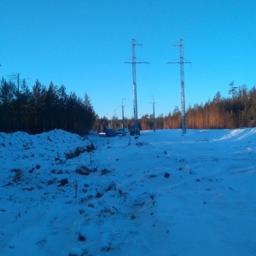
[[[20,73],[30,88],[64,84],[87,93],[96,113],[133,115],[131,38],[137,43],[138,117],[180,108],[183,39],[186,108],[207,102],[230,82],[256,84],[255,0],[0,0],[0,76]],[[181,108],[180,108],[181,109]]]

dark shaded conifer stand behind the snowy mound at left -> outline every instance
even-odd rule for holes
[[[29,90],[26,80],[16,85],[11,80],[0,84],[0,131],[26,131],[37,134],[62,129],[83,135],[96,120],[96,113],[85,93],[67,95],[66,87],[52,82],[47,88],[38,79]]]

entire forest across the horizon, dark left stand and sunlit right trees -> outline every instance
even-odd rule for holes
[[[144,114],[139,119],[141,130],[181,128],[181,111],[178,107],[167,115]],[[133,125],[133,119],[125,118],[125,127]],[[186,109],[188,129],[235,129],[256,126],[256,88],[247,85],[235,87],[230,84],[230,96],[222,97],[220,92],[204,104],[189,105]],[[25,131],[37,134],[53,129],[62,129],[84,135],[91,129],[104,132],[122,127],[122,119],[99,118],[90,97],[67,94],[66,87],[52,82],[47,88],[38,79],[29,90],[26,80],[16,85],[4,78],[0,84],[0,131]]]

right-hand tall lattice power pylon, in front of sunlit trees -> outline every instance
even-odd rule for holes
[[[183,59],[183,39],[179,40],[179,44],[173,44],[172,46],[179,46],[179,61],[170,61],[167,64],[179,64],[180,65],[180,84],[181,84],[181,108],[182,108],[182,124],[183,124],[183,134],[186,133],[186,109],[185,109],[185,88],[184,88],[184,63]]]

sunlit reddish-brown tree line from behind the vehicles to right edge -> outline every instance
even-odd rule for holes
[[[233,84],[231,84],[233,85]],[[144,114],[139,123],[142,130],[154,129],[153,114]],[[125,127],[130,128],[133,119],[125,119]],[[189,129],[236,129],[241,127],[256,126],[256,88],[247,90],[247,85],[230,88],[230,96],[222,97],[218,91],[212,101],[205,104],[189,105],[186,109],[186,126]],[[96,119],[93,126],[97,131],[105,131],[107,127],[122,127],[122,120],[108,120],[106,117]],[[181,111],[175,107],[173,112],[166,116],[160,114],[155,118],[156,129],[182,128]]]

